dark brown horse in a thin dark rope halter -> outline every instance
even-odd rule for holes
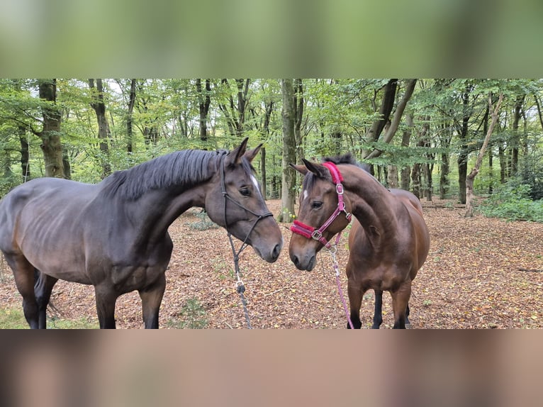
[[[39,178],[9,192],[0,201],[0,250],[30,328],[46,328],[58,279],[94,286],[100,328],[116,327],[116,300],[134,290],[145,328],[158,328],[168,227],[193,206],[275,262],[283,237],[250,164],[261,146],[247,150],[246,138],[231,152],[172,152],[99,184]]]

